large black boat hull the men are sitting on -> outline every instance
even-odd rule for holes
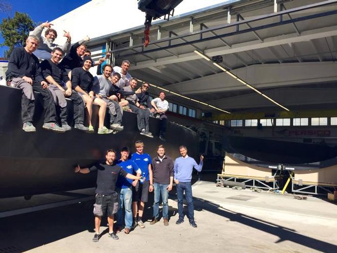
[[[191,156],[198,155],[195,132],[168,122],[163,143],[158,137],[160,120],[150,118],[150,131],[155,136],[152,139],[139,134],[136,114],[132,112],[124,112],[125,129],[117,134],[90,134],[76,129],[65,133],[46,131],[42,129],[39,94],[36,94],[34,119],[37,132],[27,133],[21,129],[21,91],[0,86],[0,94],[0,198],[94,187],[96,175],[75,174],[74,167],[77,164],[91,166],[104,159],[109,148],[117,150],[118,155],[124,146],[134,151],[137,140],[145,143],[145,151],[151,156],[156,154],[159,144],[163,144],[166,154],[173,158],[179,156],[179,145],[186,145]],[[71,124],[72,104],[67,102]],[[94,116],[97,117],[97,113]]]

